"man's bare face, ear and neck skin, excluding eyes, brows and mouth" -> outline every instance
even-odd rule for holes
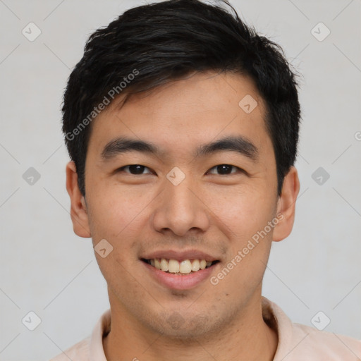
[[[250,114],[238,106],[246,94],[258,102]],[[262,278],[272,241],[292,230],[300,183],[292,167],[277,195],[276,159],[257,88],[243,75],[209,72],[133,95],[123,106],[122,97],[92,123],[85,197],[75,164],[66,166],[74,232],[114,247],[105,258],[95,252],[111,305],[107,359],[273,360],[278,338],[262,319]],[[164,154],[128,152],[102,161],[104,146],[121,135],[151,141]],[[258,160],[230,151],[192,156],[197,146],[225,135],[251,140]],[[147,168],[114,173],[130,164]],[[220,164],[245,172],[224,175],[214,168]],[[176,186],[166,178],[174,166],[185,174]],[[216,286],[206,279],[171,290],[139,259],[154,250],[202,250],[220,260],[216,276],[277,214],[282,220]]]

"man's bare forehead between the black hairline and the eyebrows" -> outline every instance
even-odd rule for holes
[[[90,143],[97,152],[121,135],[152,140],[164,154],[174,150],[179,155],[193,154],[195,143],[217,137],[243,135],[261,148],[270,141],[265,139],[264,102],[243,75],[196,73],[123,101],[114,100],[92,124]]]

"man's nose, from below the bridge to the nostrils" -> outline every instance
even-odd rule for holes
[[[157,197],[152,218],[154,229],[161,233],[172,231],[179,236],[189,231],[207,231],[209,209],[190,177],[185,177],[178,185],[166,180],[164,187]]]

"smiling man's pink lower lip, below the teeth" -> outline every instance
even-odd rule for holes
[[[141,261],[142,262],[142,261]],[[152,277],[166,288],[172,288],[173,290],[189,290],[198,286],[202,281],[209,278],[216,264],[206,269],[200,269],[197,272],[191,272],[190,274],[169,274],[167,272],[156,269],[155,267],[142,262],[152,274]],[[217,263],[218,264],[218,263]]]

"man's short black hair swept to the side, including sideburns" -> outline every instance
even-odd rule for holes
[[[231,10],[231,11],[228,11]],[[300,124],[297,72],[283,49],[240,20],[223,0],[168,0],[130,8],[90,35],[63,97],[63,133],[85,195],[92,120],[118,94],[153,89],[194,72],[249,75],[266,104],[277,191],[295,163]]]

